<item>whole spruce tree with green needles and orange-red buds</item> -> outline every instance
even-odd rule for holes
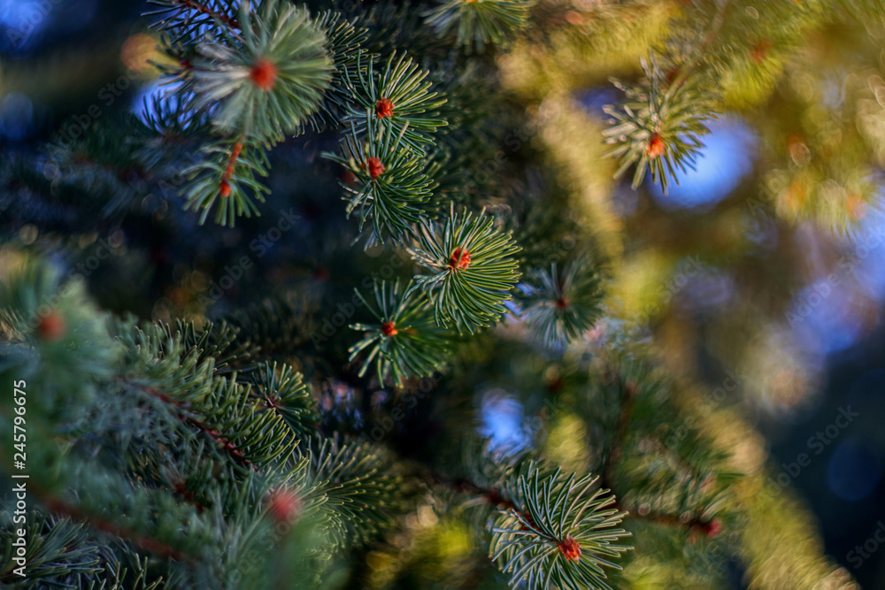
[[[28,475],[0,582],[854,586],[654,342],[629,249],[667,227],[615,182],[666,192],[739,112],[773,153],[728,223],[855,231],[881,78],[823,112],[809,53],[872,67],[881,3],[149,4],[143,114],[0,163],[0,471]],[[512,404],[518,436],[477,427]]]

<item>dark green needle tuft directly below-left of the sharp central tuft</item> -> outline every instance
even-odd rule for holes
[[[404,291],[408,287],[401,290],[399,282],[391,286],[386,281],[376,281],[374,305],[357,291],[378,320],[376,324],[350,326],[366,333],[365,338],[350,347],[350,360],[367,352],[360,377],[374,364],[382,384],[391,377],[397,387],[402,387],[404,379],[427,377],[443,367],[455,334],[435,325],[426,295],[404,295]]]

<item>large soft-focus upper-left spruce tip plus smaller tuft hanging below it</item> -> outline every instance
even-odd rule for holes
[[[184,171],[185,210],[202,211],[201,224],[212,210],[215,222],[228,226],[258,215],[255,202],[268,192],[256,180],[269,170],[266,149],[303,130],[334,70],[327,37],[306,10],[266,0],[256,11],[243,3],[240,15],[242,36],[222,30],[218,39],[190,47],[179,35],[162,46],[181,64],[163,68],[177,82],[166,101],[196,112],[196,120],[204,115],[224,136]]]

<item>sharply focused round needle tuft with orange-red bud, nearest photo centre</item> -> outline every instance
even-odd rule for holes
[[[496,322],[519,280],[514,257],[519,246],[510,232],[496,230],[495,218],[484,213],[459,217],[452,205],[443,224],[422,219],[420,248],[408,249],[432,272],[416,277],[412,290],[426,291],[435,306],[436,323],[453,323],[458,332],[473,333]]]

